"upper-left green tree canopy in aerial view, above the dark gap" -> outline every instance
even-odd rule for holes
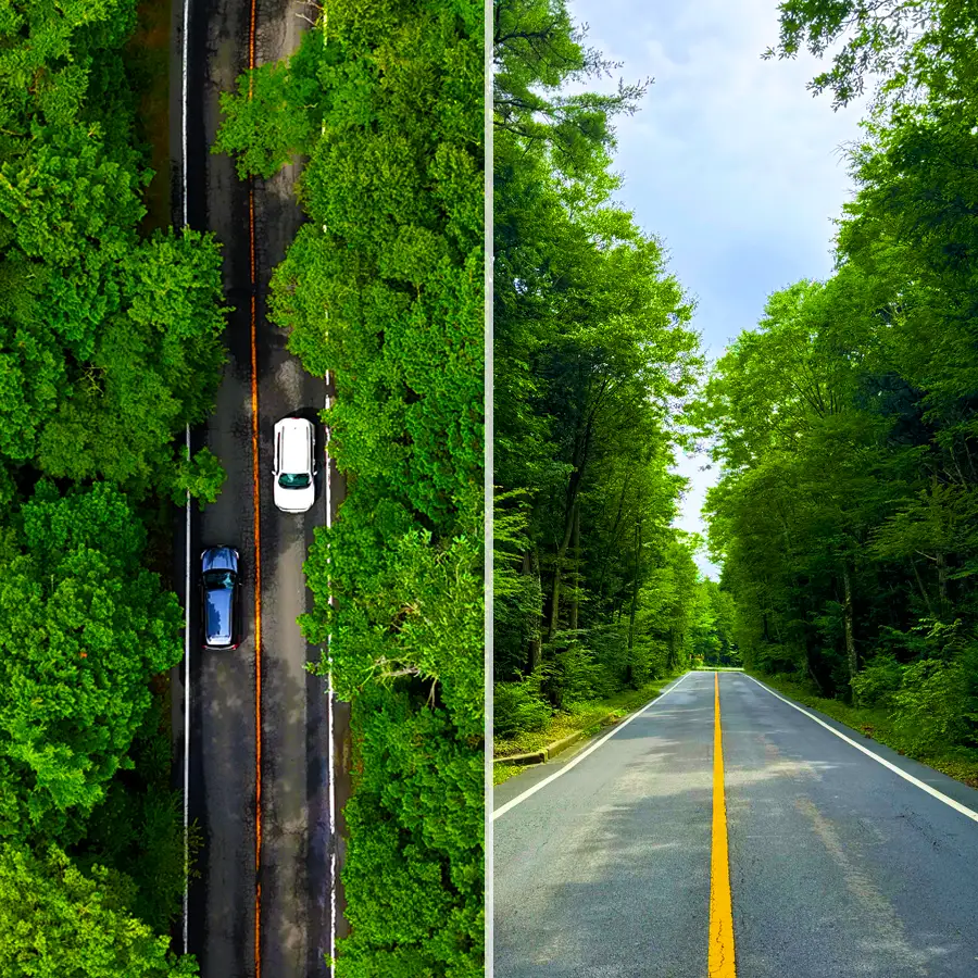
[[[145,493],[210,410],[220,255],[140,238],[150,173],[121,46],[135,3],[9,4],[0,23],[0,461]],[[126,444],[125,452],[120,446]],[[10,491],[10,490],[7,490]]]

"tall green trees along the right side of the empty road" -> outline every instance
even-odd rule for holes
[[[774,293],[701,405],[723,466],[710,543],[745,665],[966,778],[978,761],[976,33],[969,8],[930,0],[782,4],[772,55],[835,50],[811,87],[836,106],[877,85],[849,152],[857,192],[833,274]]]

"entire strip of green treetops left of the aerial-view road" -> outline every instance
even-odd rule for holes
[[[148,78],[127,0],[0,15],[0,975],[197,974],[164,584],[181,456],[223,363],[220,253],[141,225]]]

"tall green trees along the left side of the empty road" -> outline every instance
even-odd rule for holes
[[[672,525],[692,303],[614,199],[613,123],[645,86],[565,93],[617,66],[562,0],[498,0],[494,45],[493,716],[510,739],[737,653],[730,595]]]

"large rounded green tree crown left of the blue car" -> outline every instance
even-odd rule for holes
[[[0,836],[63,840],[124,763],[180,659],[183,615],[140,567],[146,531],[108,484],[48,481],[0,543]]]

